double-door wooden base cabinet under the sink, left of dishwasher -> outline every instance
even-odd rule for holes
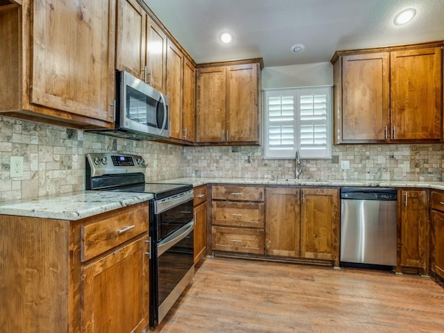
[[[339,190],[266,188],[267,255],[339,266]]]

